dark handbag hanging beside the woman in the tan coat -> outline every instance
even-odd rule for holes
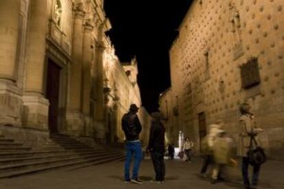
[[[256,148],[254,148],[253,143],[255,143]],[[259,166],[265,163],[267,160],[264,150],[263,148],[259,147],[257,140],[255,140],[255,136],[250,136],[250,146],[247,155],[252,166]]]

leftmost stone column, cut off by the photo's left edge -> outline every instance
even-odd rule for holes
[[[21,91],[15,85],[21,1],[0,1],[0,125],[21,125]]]

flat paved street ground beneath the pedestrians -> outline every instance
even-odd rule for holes
[[[198,172],[202,161],[194,159],[192,164],[180,160],[166,160],[165,184],[151,183],[154,175],[150,160],[141,164],[140,178],[143,184],[125,184],[123,182],[123,162],[112,162],[91,166],[76,171],[49,171],[35,175],[26,175],[0,180],[1,189],[132,189],[132,188],[242,188],[240,168],[226,170],[224,183],[211,184],[202,179]],[[284,162],[270,161],[263,165],[259,188],[284,188]],[[210,170],[209,170],[210,171]]]

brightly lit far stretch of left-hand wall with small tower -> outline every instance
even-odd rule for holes
[[[132,71],[132,75],[126,74],[128,70]],[[136,103],[140,107],[138,116],[143,127],[140,138],[143,144],[147,144],[151,117],[147,110],[141,106],[140,90],[136,82],[138,73],[136,59],[121,63],[115,55],[114,47],[108,44],[104,55],[104,72],[104,86],[108,88],[108,93],[105,95],[106,108],[113,110],[108,111],[108,116],[112,118],[108,123],[110,141],[123,142],[125,140],[121,129],[121,118],[123,114],[128,112],[130,104]]]

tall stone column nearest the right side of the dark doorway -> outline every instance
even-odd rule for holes
[[[84,11],[77,8],[73,21],[72,66],[69,84],[69,101],[67,102],[67,133],[73,136],[82,134],[81,82],[83,53],[83,18]]]

